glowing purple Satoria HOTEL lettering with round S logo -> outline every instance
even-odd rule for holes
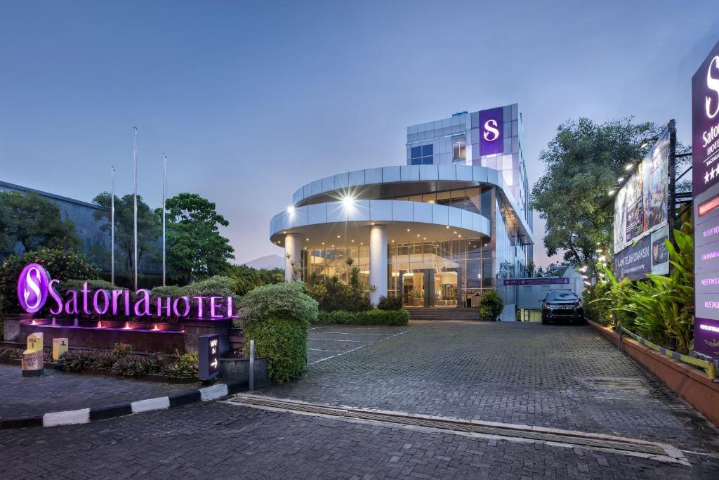
[[[52,315],[96,314],[113,317],[178,317],[220,320],[233,316],[232,296],[155,296],[147,289],[131,294],[127,289],[82,289],[58,294],[58,279],[37,263],[25,266],[17,280],[17,299],[27,313],[40,312],[48,299]]]

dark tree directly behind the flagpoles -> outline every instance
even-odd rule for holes
[[[100,230],[110,235],[110,207],[111,197],[104,191],[93,199],[93,204],[102,207],[95,212],[95,219],[104,219]],[[132,194],[119,199],[115,196],[115,248],[122,253],[122,266],[129,276],[134,268],[134,205]],[[142,196],[137,196],[137,263],[145,255],[152,255],[157,251],[157,239],[162,234],[160,220],[155,212],[150,210]],[[109,254],[109,253],[108,253]]]

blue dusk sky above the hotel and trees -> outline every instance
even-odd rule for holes
[[[0,180],[91,201],[197,192],[236,261],[283,255],[303,184],[406,164],[406,127],[518,103],[530,184],[569,119],[677,119],[719,40],[712,1],[14,1],[0,4]],[[546,266],[544,223],[535,261]]]

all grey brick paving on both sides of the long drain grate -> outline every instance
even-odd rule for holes
[[[383,330],[383,334],[402,330],[406,328]],[[332,331],[362,333],[350,327]],[[644,387],[607,389],[592,382],[600,376],[639,379]],[[687,453],[692,467],[672,466],[582,448],[467,438],[211,402],[88,425],[0,431],[1,475],[12,479],[718,478],[715,430],[585,327],[413,323],[403,335],[386,335],[314,363],[305,378],[262,393],[623,433],[702,454]]]

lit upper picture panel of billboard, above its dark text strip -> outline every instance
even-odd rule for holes
[[[668,225],[669,128],[659,135],[614,201],[614,252]]]

